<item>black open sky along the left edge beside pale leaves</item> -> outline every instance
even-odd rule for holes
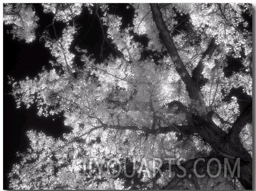
[[[15,153],[26,149],[27,130],[37,129],[55,137],[64,133],[62,118],[52,121],[52,118],[39,117],[35,106],[30,109],[24,107],[16,109],[14,98],[9,95],[11,86],[7,85],[8,75],[16,79],[35,76],[43,65],[48,64],[48,59],[49,51],[44,49],[43,44],[19,43],[12,40],[11,35],[6,34],[4,30],[4,175],[16,162]],[[6,176],[4,176],[4,189],[8,189]]]

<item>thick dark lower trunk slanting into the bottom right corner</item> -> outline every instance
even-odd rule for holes
[[[211,121],[206,121],[200,117],[194,118],[193,121],[195,120],[197,122],[197,133],[220,156],[229,160],[231,170],[234,169],[236,160],[240,159],[240,165],[236,167],[234,175],[245,189],[252,190],[252,156],[245,150],[240,139],[230,139],[227,134],[221,133],[221,129],[217,128]],[[237,174],[237,168],[240,168],[240,174]]]

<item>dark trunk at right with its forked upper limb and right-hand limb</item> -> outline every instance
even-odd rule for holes
[[[181,80],[186,85],[186,90],[189,94],[191,101],[199,101],[203,103],[201,99],[201,90],[198,85],[198,80],[201,76],[204,65],[203,60],[200,60],[197,67],[193,71],[192,78],[186,70],[181,57],[179,57],[178,50],[176,49],[173,39],[169,35],[168,28],[164,23],[161,11],[158,4],[150,4],[156,27],[159,30],[159,35],[163,39],[163,43],[168,50],[168,53],[173,60],[174,67],[181,77]],[[212,39],[209,46],[204,52],[202,59],[206,55],[210,56],[216,49],[215,39]],[[204,104],[202,104],[203,106]],[[200,116],[199,116],[200,115]],[[220,156],[229,159],[230,167],[233,169],[237,158],[240,159],[240,177],[235,171],[235,176],[245,189],[252,189],[252,157],[244,149],[239,139],[239,134],[246,123],[249,123],[252,118],[252,103],[246,108],[240,116],[237,118],[235,123],[232,125],[229,134],[225,133],[220,127],[212,122],[211,114],[192,114],[192,118],[189,118],[189,125],[193,126],[194,133],[197,133],[202,139],[207,142]],[[205,115],[205,116],[202,116]]]

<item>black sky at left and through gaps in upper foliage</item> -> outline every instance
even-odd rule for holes
[[[127,4],[112,4],[110,12],[123,17],[123,27],[131,24],[134,10],[126,9]],[[44,14],[42,7],[39,4],[34,4],[36,14],[39,16],[39,29],[37,35],[40,35],[46,26],[52,21],[52,15]],[[181,19],[178,18],[178,19]],[[84,10],[76,20],[80,24],[81,29],[75,39],[73,45],[80,45],[86,48],[89,53],[94,54],[97,61],[100,62],[106,58],[110,53],[115,55],[115,52],[110,49],[107,43],[103,46],[103,55],[100,56],[100,50],[103,42],[102,30],[95,14],[89,15],[88,11]],[[55,23],[57,33],[61,33],[63,25],[59,22]],[[12,164],[18,162],[15,153],[17,151],[25,151],[28,146],[28,139],[26,131],[29,129],[36,129],[42,131],[49,136],[60,137],[63,133],[68,133],[69,129],[64,126],[63,116],[49,116],[48,118],[37,116],[36,106],[25,109],[24,106],[17,109],[16,103],[11,92],[11,86],[7,85],[7,76],[22,80],[25,77],[35,77],[37,73],[42,71],[45,65],[49,68],[49,59],[52,58],[48,49],[44,48],[44,44],[37,39],[31,44],[24,42],[17,42],[12,40],[12,36],[6,34],[8,27],[4,26],[4,189],[9,189],[7,182],[7,173],[10,172]],[[52,29],[50,29],[52,33]],[[146,40],[141,37],[141,43],[145,44]],[[145,38],[145,37],[144,37]],[[138,39],[138,37],[137,37]],[[77,62],[78,59],[76,59]],[[239,69],[238,64],[230,62],[230,68]],[[228,68],[230,70],[230,68]],[[232,69],[233,70],[233,69]],[[245,96],[242,99],[249,99],[241,93],[242,90],[234,90],[234,95]],[[231,97],[232,95],[230,95]],[[53,120],[54,119],[54,120]]]

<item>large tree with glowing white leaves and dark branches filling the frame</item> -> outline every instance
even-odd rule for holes
[[[10,77],[17,107],[37,105],[45,117],[63,114],[72,129],[61,139],[27,132],[31,145],[18,154],[21,162],[9,174],[11,187],[230,189],[231,183],[231,189],[239,184],[252,189],[252,29],[246,19],[252,5],[128,4],[135,11],[130,26],[123,26],[110,6],[42,4],[45,13],[54,15],[47,27],[53,32],[46,29],[36,38],[38,17],[32,6],[4,4],[4,23],[12,25],[14,37],[42,40],[54,57],[50,69],[36,78],[17,82]],[[84,10],[100,23],[101,55],[105,42],[113,50],[100,63],[75,44],[76,21]],[[62,34],[56,22],[64,24]],[[232,60],[242,67],[232,69]],[[249,99],[240,100],[235,92]],[[92,160],[85,170],[85,159],[93,157],[102,161]],[[174,157],[186,159],[181,162],[186,176],[180,177],[178,163],[164,161]],[[158,170],[151,168],[154,158],[163,159]],[[219,177],[196,176],[197,158],[205,160],[196,168],[201,174],[207,162],[218,159]],[[235,170],[234,177],[224,178],[225,159],[232,169],[240,159],[240,175]],[[135,175],[127,177],[125,170],[116,177],[103,175],[103,160],[112,174],[121,161]],[[211,163],[212,174],[216,166]]]

